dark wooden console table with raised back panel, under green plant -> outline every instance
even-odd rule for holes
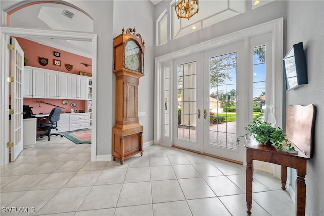
[[[259,144],[254,139],[245,145],[247,154],[246,166],[246,202],[247,213],[251,214],[252,208],[252,177],[253,160],[265,161],[281,165],[282,189],[286,190],[287,167],[297,170],[296,179],[296,215],[305,215],[306,184],[305,175],[307,160],[313,153],[313,134],[316,109],[311,104],[308,106],[288,106],[286,116],[287,139],[298,153],[286,153],[275,146]]]

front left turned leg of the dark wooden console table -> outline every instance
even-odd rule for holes
[[[247,213],[251,214],[252,208],[252,151],[247,149],[247,167],[246,167],[246,202]]]

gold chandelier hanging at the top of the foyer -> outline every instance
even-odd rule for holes
[[[178,18],[189,19],[199,11],[198,0],[176,0],[174,8]]]

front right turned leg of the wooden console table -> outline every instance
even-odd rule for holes
[[[301,174],[297,170],[297,179],[296,179],[296,215],[305,215],[305,206],[306,206],[306,184],[305,184],[305,175]]]

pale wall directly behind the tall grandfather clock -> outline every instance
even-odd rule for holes
[[[146,112],[139,117],[144,126],[143,143],[154,140],[154,49],[155,20],[154,5],[150,1],[114,1],[113,36],[121,34],[121,28],[133,28],[145,42],[144,77],[138,87],[138,111]],[[115,123],[116,77],[113,75],[113,124]]]

